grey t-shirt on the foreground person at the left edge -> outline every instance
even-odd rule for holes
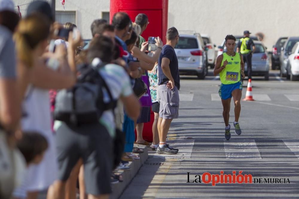
[[[0,25],[0,78],[16,78],[16,53],[12,33]]]

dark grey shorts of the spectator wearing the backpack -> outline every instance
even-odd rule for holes
[[[65,123],[56,131],[58,178],[66,181],[79,158],[83,159],[86,193],[112,193],[112,138],[101,124],[70,127]]]

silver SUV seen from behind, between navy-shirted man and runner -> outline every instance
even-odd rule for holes
[[[208,61],[205,44],[199,33],[181,34],[174,47],[179,62],[180,75],[197,75],[204,79],[208,74]]]

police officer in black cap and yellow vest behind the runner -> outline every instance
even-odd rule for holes
[[[243,56],[244,63],[247,63],[247,75],[248,79],[251,79],[251,58],[252,53],[255,50],[253,40],[249,38],[251,33],[248,30],[244,31],[244,37],[240,39],[237,52],[240,52]],[[252,48],[252,49],[251,49]]]

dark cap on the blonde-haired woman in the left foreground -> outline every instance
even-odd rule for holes
[[[27,8],[27,16],[31,15],[32,13],[42,13],[51,21],[54,21],[51,6],[47,1],[32,1]]]

